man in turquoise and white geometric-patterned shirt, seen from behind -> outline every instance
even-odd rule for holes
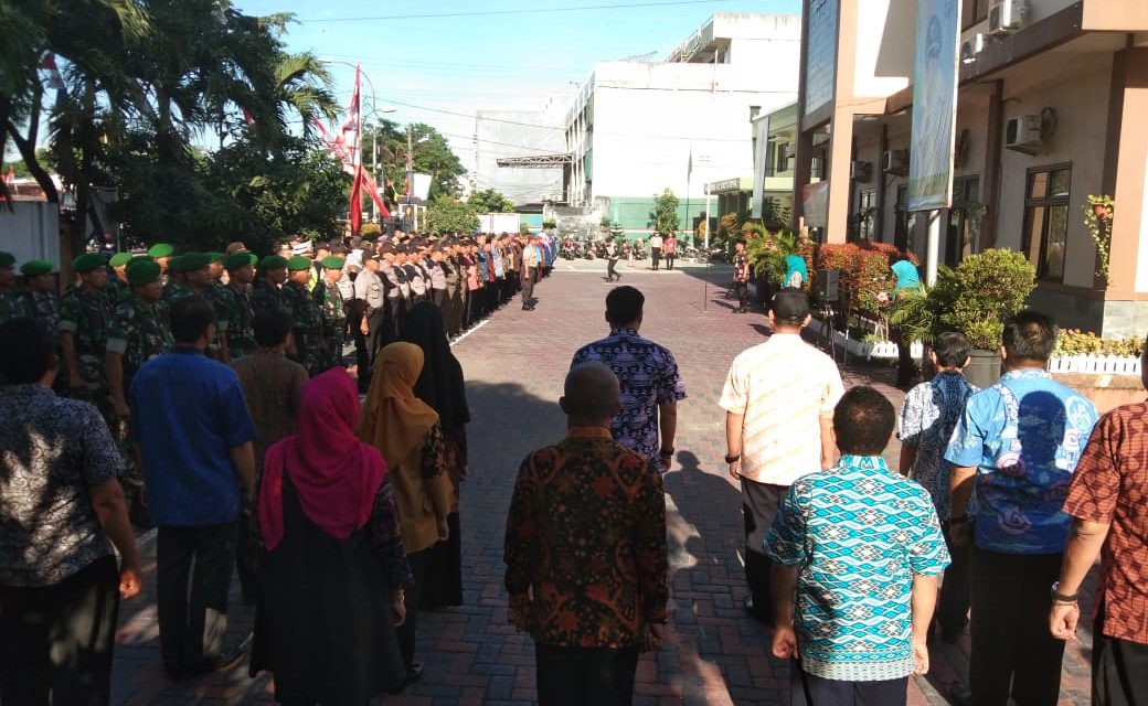
[[[793,706],[903,706],[909,675],[929,672],[949,557],[929,491],[881,456],[894,420],[877,390],[846,393],[833,409],[841,460],[793,482],[766,537],[773,653],[799,660]]]

